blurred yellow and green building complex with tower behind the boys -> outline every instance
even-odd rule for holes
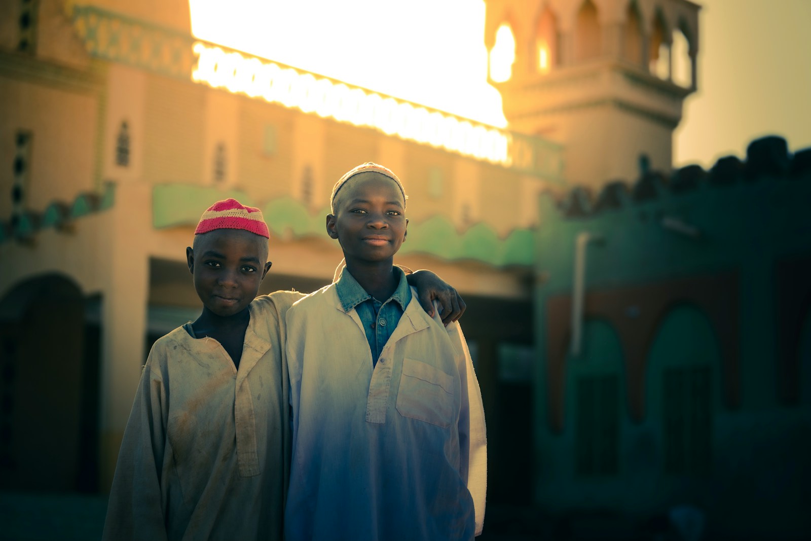
[[[468,304],[491,506],[555,539],[684,506],[811,533],[811,149],[672,169],[697,4],[487,0],[507,128],[195,39],[185,0],[0,9],[0,490],[108,490],[149,347],[199,314],[204,208],[262,208],[262,291],[315,290],[329,190],[376,161],[398,263]]]

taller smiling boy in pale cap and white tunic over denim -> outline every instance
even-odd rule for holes
[[[486,491],[482,400],[459,325],[428,316],[393,266],[405,191],[367,163],[336,183],[332,205],[327,231],[346,268],[287,316],[286,539],[473,539]]]

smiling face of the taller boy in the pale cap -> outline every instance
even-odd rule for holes
[[[346,260],[391,260],[405,241],[408,225],[397,183],[374,171],[360,173],[341,187],[336,199],[327,232],[341,243]]]

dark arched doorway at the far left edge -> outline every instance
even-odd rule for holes
[[[85,467],[88,458],[96,462],[97,389],[87,388],[97,375],[87,373],[84,311],[79,288],[55,274],[24,281],[0,300],[3,489],[96,488]]]

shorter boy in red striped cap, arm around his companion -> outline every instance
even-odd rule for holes
[[[268,237],[260,210],[237,200],[200,218],[186,255],[203,311],[152,346],[104,539],[281,539],[290,467],[285,314],[304,295],[256,297],[271,266]],[[433,273],[417,274],[427,296],[457,298]]]

